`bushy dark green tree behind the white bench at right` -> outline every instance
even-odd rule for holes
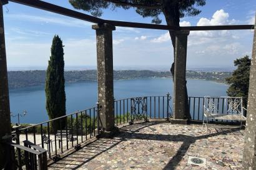
[[[244,105],[247,105],[249,80],[250,80],[250,63],[251,59],[246,55],[240,59],[234,60],[234,65],[237,69],[234,70],[231,77],[226,78],[230,87],[227,90],[227,95],[230,97],[243,97]]]

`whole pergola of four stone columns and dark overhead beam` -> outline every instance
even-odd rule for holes
[[[98,102],[101,105],[99,113],[102,128],[111,131],[114,128],[114,86],[113,86],[113,52],[112,52],[112,31],[119,27],[135,27],[141,29],[159,29],[175,31],[175,66],[174,66],[174,119],[173,123],[187,123],[185,120],[185,70],[187,60],[187,36],[190,31],[217,31],[217,30],[238,30],[254,29],[254,46],[252,52],[252,66],[250,70],[249,104],[247,113],[247,128],[244,148],[244,169],[256,168],[256,27],[254,25],[233,25],[233,26],[190,26],[173,27],[165,25],[144,24],[137,22],[111,21],[89,16],[87,14],[73,11],[61,6],[31,0],[9,0],[26,6],[51,11],[64,16],[69,16],[82,21],[92,22],[95,25],[97,39],[97,80],[98,80]],[[2,6],[8,0],[0,0],[0,137],[11,140],[11,119],[9,107],[9,89],[7,82],[6,47],[4,40],[4,20]],[[6,136],[7,135],[7,136]],[[4,143],[0,144],[0,162],[4,165]],[[8,158],[7,158],[8,159]]]

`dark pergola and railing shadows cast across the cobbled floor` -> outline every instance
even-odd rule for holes
[[[49,165],[49,169],[78,169],[84,164],[88,163],[92,159],[96,158],[100,154],[106,152],[107,150],[113,148],[122,141],[127,139],[144,139],[144,140],[157,140],[157,141],[181,141],[182,146],[175,154],[175,156],[170,159],[169,163],[165,166],[164,170],[175,169],[177,165],[182,160],[182,157],[185,156],[185,153],[190,147],[190,144],[195,143],[198,139],[206,139],[212,136],[225,135],[227,133],[235,133],[240,130],[240,128],[234,129],[221,129],[218,128],[215,133],[210,133],[207,135],[201,136],[190,136],[190,135],[161,135],[161,134],[144,134],[138,133],[143,128],[147,128],[153,125],[159,124],[159,122],[150,122],[150,123],[137,123],[134,125],[124,126],[120,129],[114,138],[100,138],[94,141],[87,146],[84,146],[79,151],[68,154],[64,156],[57,163]],[[154,130],[154,128],[152,128]]]

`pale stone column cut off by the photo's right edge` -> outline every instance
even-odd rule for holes
[[[256,169],[256,27],[254,27],[247,108],[243,167],[245,170],[254,170]]]

